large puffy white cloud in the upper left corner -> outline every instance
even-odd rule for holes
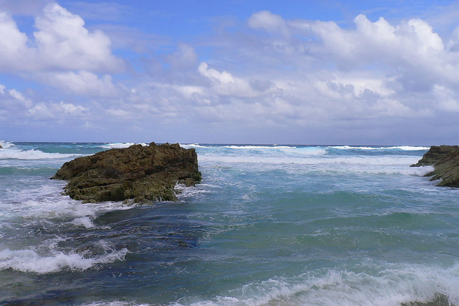
[[[6,12],[0,12],[0,70],[88,70],[117,72],[124,63],[111,53],[111,41],[101,31],[89,32],[84,20],[58,4],[44,7],[35,18],[29,39]]]

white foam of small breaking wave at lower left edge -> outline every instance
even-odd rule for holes
[[[0,270],[13,269],[22,272],[53,273],[64,269],[86,270],[96,264],[113,263],[124,260],[127,249],[112,251],[95,258],[84,258],[79,253],[58,252],[41,256],[32,249],[0,251]]]

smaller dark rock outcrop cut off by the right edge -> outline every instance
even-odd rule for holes
[[[432,176],[430,181],[441,180],[437,186],[459,188],[459,146],[431,146],[422,159],[412,167],[433,165],[433,170],[425,176]]]

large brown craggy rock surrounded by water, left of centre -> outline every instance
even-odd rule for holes
[[[51,179],[68,180],[64,193],[84,202],[174,201],[175,184],[194,186],[201,173],[195,149],[152,142],[76,158]]]

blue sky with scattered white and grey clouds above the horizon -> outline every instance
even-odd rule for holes
[[[0,139],[459,143],[459,1],[0,0]]]

